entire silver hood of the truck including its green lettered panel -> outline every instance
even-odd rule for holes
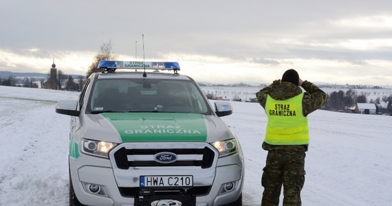
[[[224,122],[198,113],[101,113],[87,115],[85,137],[106,141],[206,141],[233,138]],[[97,137],[98,135],[98,137]],[[109,136],[109,137],[108,137]]]

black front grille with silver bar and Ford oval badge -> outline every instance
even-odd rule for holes
[[[154,155],[160,152],[172,152],[179,160],[173,163],[159,163],[154,161]],[[193,157],[182,159],[181,157]],[[122,147],[114,153],[114,159],[119,169],[128,170],[130,167],[173,167],[197,166],[203,169],[213,165],[215,152],[208,147],[204,148],[168,148],[168,149],[127,149]]]

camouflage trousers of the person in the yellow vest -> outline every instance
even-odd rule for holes
[[[305,183],[305,152],[296,150],[268,151],[261,185],[264,187],[262,206],[279,205],[283,185],[283,205],[301,205]]]

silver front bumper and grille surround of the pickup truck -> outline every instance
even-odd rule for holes
[[[179,143],[159,143],[159,148],[178,148]],[[181,144],[181,148],[193,150],[195,148],[208,147],[215,154],[209,168],[202,168],[195,165],[175,165],[156,167],[151,165],[129,167],[127,169],[118,168],[118,161],[114,154],[120,148],[127,150],[138,150],[147,148],[144,143],[121,144],[109,154],[109,159],[91,157],[89,155],[80,155],[78,159],[70,159],[69,167],[72,176],[74,191],[80,203],[84,205],[135,205],[135,201],[140,201],[140,197],[145,200],[154,198],[151,194],[140,194],[140,176],[146,175],[192,175],[193,187],[169,189],[174,193],[165,193],[167,196],[182,194],[193,196],[196,205],[224,205],[237,200],[241,195],[243,185],[243,159],[242,155],[237,153],[228,157],[218,159],[218,153],[209,144]],[[151,148],[151,143],[148,144]],[[157,148],[152,148],[157,149]],[[127,155],[128,161],[149,159],[151,155],[141,155],[140,157],[131,157]],[[191,155],[195,158],[197,155]],[[181,159],[184,157],[179,157]],[[131,163],[130,163],[131,164]],[[222,190],[225,183],[234,183],[230,191]],[[105,191],[105,195],[98,195],[85,190],[83,183],[100,185]],[[162,188],[151,188],[152,193],[155,189],[162,192]],[[167,190],[167,191],[169,191]],[[175,196],[175,195],[174,195]],[[174,197],[175,198],[175,197]],[[185,205],[184,205],[185,206]]]

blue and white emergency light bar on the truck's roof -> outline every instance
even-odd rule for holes
[[[179,70],[178,62],[138,62],[100,60],[98,69],[162,69]]]

